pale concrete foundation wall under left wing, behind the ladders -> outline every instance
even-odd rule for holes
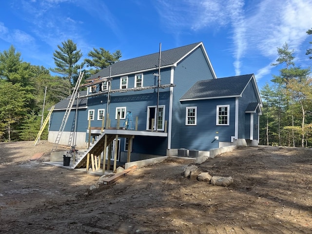
[[[48,135],[48,142],[54,143],[57,136],[58,136],[59,132],[53,132],[50,131],[49,135]],[[62,136],[59,139],[59,144],[60,145],[68,145],[68,139],[70,138],[71,133],[70,132],[63,132]],[[78,132],[76,134],[77,139],[76,139],[76,145],[78,148],[86,148],[86,133],[81,133]],[[72,137],[72,139],[74,139],[74,137]]]

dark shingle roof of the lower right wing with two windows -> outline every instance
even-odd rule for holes
[[[253,75],[197,81],[180,100],[240,96]]]

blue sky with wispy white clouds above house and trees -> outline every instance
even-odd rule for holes
[[[67,39],[83,58],[103,47],[121,60],[202,41],[218,78],[254,73],[261,89],[285,42],[297,65],[312,65],[311,28],[312,0],[4,0],[0,52],[14,45],[23,61],[54,68]]]

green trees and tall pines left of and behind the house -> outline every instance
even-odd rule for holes
[[[88,78],[119,61],[121,52],[93,48],[81,62],[82,56],[71,39],[63,41],[53,53],[54,68],[23,61],[14,45],[0,52],[0,142],[34,140],[42,123],[44,100],[46,117],[49,108],[71,95],[80,69],[84,70],[84,79]],[[41,139],[47,139],[47,135],[45,128]]]

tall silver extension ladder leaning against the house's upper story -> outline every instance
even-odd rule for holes
[[[60,140],[60,137],[62,136],[62,133],[64,131],[64,128],[65,128],[65,125],[66,125],[66,122],[68,120],[68,117],[69,117],[69,114],[70,114],[70,111],[74,105],[74,102],[75,102],[75,99],[76,99],[76,96],[78,94],[78,90],[79,90],[79,86],[80,86],[80,82],[81,82],[81,79],[83,77],[83,74],[84,72],[81,73],[81,70],[80,70],[80,73],[79,73],[79,77],[77,79],[77,82],[76,82],[76,85],[75,85],[75,88],[74,88],[74,91],[73,91],[73,94],[71,96],[71,98],[69,99],[69,102],[68,102],[68,106],[67,106],[67,109],[65,111],[65,114],[64,114],[64,117],[63,117],[63,120],[61,122],[61,125],[59,127],[59,133],[55,139],[55,142],[54,142],[54,145],[52,147],[52,150],[51,152],[55,152],[58,148],[58,145],[59,145],[59,140]],[[78,100],[77,100],[77,103],[78,105]]]

